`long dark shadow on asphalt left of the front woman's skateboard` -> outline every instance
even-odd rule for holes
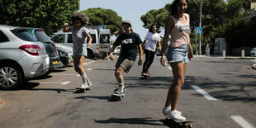
[[[149,117],[145,118],[110,118],[107,120],[95,120],[97,123],[101,124],[109,124],[109,123],[116,123],[116,124],[130,124],[130,125],[151,125],[151,126],[164,126],[162,121],[160,120],[152,120]]]

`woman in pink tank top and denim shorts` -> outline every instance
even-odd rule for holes
[[[182,112],[177,111],[178,97],[184,85],[184,75],[187,69],[188,59],[192,59],[192,46],[190,43],[189,15],[187,10],[187,0],[174,0],[171,7],[171,15],[165,24],[164,42],[162,47],[161,64],[165,63],[165,50],[168,37],[172,40],[168,46],[166,57],[173,71],[173,84],[168,90],[168,96],[163,108],[163,113],[168,118],[178,121],[186,121]]]

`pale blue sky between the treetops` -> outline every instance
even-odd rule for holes
[[[123,21],[131,21],[133,31],[140,35],[141,40],[144,40],[149,30],[143,27],[140,17],[152,9],[158,10],[164,7],[169,2],[173,0],[80,0],[78,11],[94,7],[111,9],[122,17]],[[164,36],[164,31],[160,35]]]

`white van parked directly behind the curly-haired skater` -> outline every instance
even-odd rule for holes
[[[88,47],[88,59],[93,59],[94,57],[99,56],[99,39],[97,30],[89,30],[89,32],[92,36],[92,47]],[[54,41],[55,44],[69,45],[73,47],[72,32],[58,31],[51,37],[51,40]]]

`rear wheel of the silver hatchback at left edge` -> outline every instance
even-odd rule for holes
[[[15,64],[0,65],[0,88],[14,89],[21,86],[24,78]]]

